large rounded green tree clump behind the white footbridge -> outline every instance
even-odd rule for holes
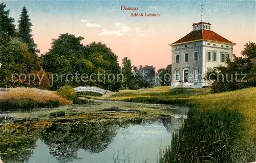
[[[117,91],[121,82],[117,78],[113,82],[108,81],[109,74],[115,77],[120,74],[117,56],[101,42],[84,46],[80,43],[83,39],[68,33],[61,34],[58,39],[53,39],[50,51],[42,55],[45,71],[56,74],[52,89],[69,83],[71,86],[96,86]]]

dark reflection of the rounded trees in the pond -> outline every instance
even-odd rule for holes
[[[41,141],[59,162],[81,159],[79,149],[90,153],[104,151],[116,136],[118,127],[114,122],[86,124],[53,124],[41,134]]]

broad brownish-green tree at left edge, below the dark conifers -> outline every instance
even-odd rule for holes
[[[0,69],[0,80],[7,86],[29,86],[28,80],[12,80],[12,75],[28,74],[33,71],[39,71],[39,63],[33,59],[33,56],[28,52],[28,46],[19,41],[17,38],[10,38],[3,46],[0,46],[0,60],[3,64]],[[25,77],[24,77],[25,78]]]

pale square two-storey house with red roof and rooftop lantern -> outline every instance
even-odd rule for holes
[[[172,46],[172,86],[207,86],[203,76],[210,69],[232,60],[233,43],[211,31],[209,22],[193,24],[193,31]]]

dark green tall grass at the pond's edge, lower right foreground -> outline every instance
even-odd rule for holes
[[[243,119],[236,110],[191,109],[160,162],[232,162],[236,140],[244,133]]]

